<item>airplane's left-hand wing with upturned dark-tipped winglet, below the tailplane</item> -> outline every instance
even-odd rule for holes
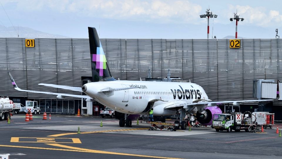
[[[12,75],[9,73],[9,76],[11,78],[11,82],[13,87],[18,90],[18,91],[23,91],[23,92],[33,92],[33,93],[42,93],[42,94],[48,94],[48,95],[57,95],[57,98],[64,98],[64,97],[77,97],[77,98],[87,98],[87,99],[92,99],[88,95],[72,95],[72,94],[66,94],[66,93],[54,93],[54,92],[43,92],[43,91],[32,91],[32,90],[22,90],[20,89],[17,85],[16,82],[14,81]],[[57,85],[60,86],[60,85]],[[69,86],[66,86],[69,87]]]

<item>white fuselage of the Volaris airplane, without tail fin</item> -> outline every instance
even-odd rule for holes
[[[190,82],[155,82],[155,81],[108,81],[91,82],[85,93],[101,104],[118,112],[140,114],[154,102],[154,115],[172,115],[173,110],[155,109],[164,103],[186,101],[192,103],[196,99],[208,100],[204,89]],[[139,87],[127,90],[100,92],[103,89]],[[164,105],[165,107],[167,105]]]

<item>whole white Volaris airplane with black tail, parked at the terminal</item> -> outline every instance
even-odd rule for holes
[[[55,87],[77,92],[84,92],[86,95],[72,95],[55,92],[42,92],[33,90],[22,90],[17,87],[13,77],[9,73],[13,87],[19,91],[34,92],[57,95],[57,98],[78,97],[86,101],[97,101],[116,112],[119,119],[119,126],[132,126],[132,120],[137,120],[140,115],[148,114],[154,108],[154,116],[165,116],[180,114],[179,123],[181,129],[187,127],[186,121],[181,121],[183,112],[196,110],[196,118],[202,125],[212,125],[212,117],[216,113],[222,113],[217,106],[224,103],[239,105],[242,102],[266,102],[266,100],[209,100],[204,89],[192,82],[156,82],[156,81],[130,81],[116,80],[110,73],[108,63],[103,51],[100,39],[95,28],[88,27],[90,59],[92,69],[92,81],[82,87],[71,87],[64,85],[53,85],[40,83],[48,87]],[[279,98],[277,84],[276,99]],[[180,113],[179,113],[180,112]]]

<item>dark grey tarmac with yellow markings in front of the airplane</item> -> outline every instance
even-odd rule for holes
[[[42,119],[43,114],[33,115],[25,122],[25,115],[17,114],[11,124],[0,121],[0,154],[10,153],[10,159],[282,158],[282,137],[275,133],[277,126],[282,130],[281,123],[253,133],[211,127],[148,131],[150,124],[133,121],[132,127],[119,127],[116,119],[91,116],[52,114],[51,120]]]

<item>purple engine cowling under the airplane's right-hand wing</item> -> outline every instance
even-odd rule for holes
[[[212,117],[218,113],[222,113],[218,106],[206,107],[202,112],[198,111],[196,117],[202,125],[212,125]]]

